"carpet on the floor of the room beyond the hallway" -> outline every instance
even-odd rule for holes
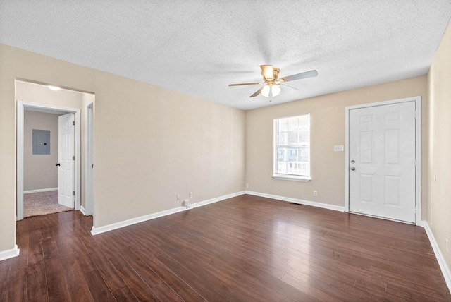
[[[73,210],[58,204],[58,190],[23,194],[23,217]]]

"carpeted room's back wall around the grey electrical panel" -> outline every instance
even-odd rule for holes
[[[23,125],[23,191],[58,188],[58,115],[25,111]],[[33,129],[50,131],[50,154],[34,155]]]

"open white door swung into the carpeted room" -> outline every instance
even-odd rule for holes
[[[58,203],[74,207],[74,114],[58,116]]]

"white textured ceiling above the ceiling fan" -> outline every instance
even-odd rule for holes
[[[272,104],[424,75],[450,16],[450,0],[2,0],[0,43],[254,109],[259,85],[228,84],[261,64],[319,73]]]

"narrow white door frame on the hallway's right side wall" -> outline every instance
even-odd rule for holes
[[[84,215],[94,215],[94,102],[86,106],[85,128],[85,207],[80,207]]]

